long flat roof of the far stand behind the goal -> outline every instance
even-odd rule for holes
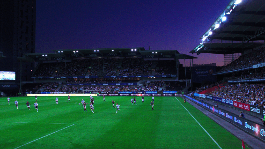
[[[194,59],[196,57],[180,54],[177,50],[145,50],[142,48],[108,48],[108,49],[67,49],[53,50],[54,53],[29,53],[20,57],[21,61],[65,60],[66,58],[142,56],[143,58]]]

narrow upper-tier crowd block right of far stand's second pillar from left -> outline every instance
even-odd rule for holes
[[[119,60],[120,59],[118,58],[104,59],[104,71],[106,72],[105,76],[115,76]]]

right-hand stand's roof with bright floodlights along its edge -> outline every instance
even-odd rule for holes
[[[213,25],[200,37],[202,45],[195,47],[191,53],[232,54],[242,52],[243,48],[245,51],[264,45],[265,2],[240,1],[229,2]]]

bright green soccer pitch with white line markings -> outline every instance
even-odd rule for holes
[[[242,141],[180,97],[155,97],[154,111],[151,97],[144,103],[136,97],[136,106],[131,97],[94,97],[94,114],[79,105],[89,97],[58,98],[57,105],[55,97],[38,97],[38,112],[34,97],[10,97],[10,105],[0,98],[0,148],[242,148]],[[117,114],[112,100],[121,106]]]

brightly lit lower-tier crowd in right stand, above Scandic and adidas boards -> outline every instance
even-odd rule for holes
[[[215,89],[208,95],[264,107],[264,84],[234,84]]]

